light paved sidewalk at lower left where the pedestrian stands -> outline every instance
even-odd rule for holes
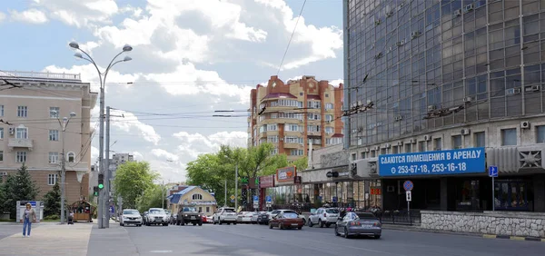
[[[0,255],[87,255],[93,226],[93,223],[33,225],[29,238],[24,238],[21,231],[0,240]]]

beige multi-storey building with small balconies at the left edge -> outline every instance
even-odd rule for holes
[[[40,189],[37,199],[42,199],[60,182],[61,123],[74,112],[64,133],[66,199],[87,199],[94,132],[90,116],[97,96],[90,84],[82,83],[79,74],[35,72],[0,72],[0,84],[0,173],[16,172],[25,162]]]

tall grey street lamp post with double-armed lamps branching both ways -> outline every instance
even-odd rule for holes
[[[99,121],[100,121],[100,131],[99,131],[99,170],[104,174],[104,187],[109,188],[109,177],[108,177],[108,167],[104,167],[104,86],[106,84],[106,76],[108,75],[108,72],[112,67],[114,67],[115,64],[122,63],[122,62],[128,62],[132,60],[131,57],[125,56],[123,60],[116,61],[117,57],[125,52],[130,52],[133,50],[133,47],[129,44],[125,44],[123,47],[123,51],[117,55],[114,56],[112,61],[110,61],[110,64],[106,67],[106,70],[104,73],[100,71],[98,68],[98,65],[94,62],[94,59],[91,57],[91,55],[85,53],[84,50],[82,50],[79,46],[79,44],[72,42],[70,44],[70,47],[72,47],[75,50],[78,50],[80,53],[75,53],[74,56],[80,59],[84,59],[88,61],[89,63],[94,65],[94,68],[96,69],[96,72],[98,73],[98,79],[100,80],[100,113],[99,113]],[[82,55],[84,54],[84,55]],[[98,196],[98,228],[104,229],[105,227],[109,226],[105,224],[104,222],[109,223],[109,218],[105,219],[105,212],[108,212],[106,207],[106,196],[109,197],[109,192],[106,190],[102,190],[99,192]]]

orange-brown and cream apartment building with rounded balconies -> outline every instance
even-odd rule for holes
[[[342,143],[342,91],[328,81],[304,75],[284,83],[272,75],[252,89],[248,145],[274,143],[275,153],[295,161],[313,149]]]

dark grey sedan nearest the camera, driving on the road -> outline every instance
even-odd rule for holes
[[[382,223],[371,212],[346,212],[335,225],[335,235],[349,238],[352,235],[369,235],[381,238]]]

